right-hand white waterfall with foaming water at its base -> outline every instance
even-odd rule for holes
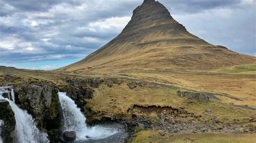
[[[90,139],[102,139],[118,132],[116,129],[102,126],[87,127],[86,118],[75,102],[66,96],[65,92],[58,92],[58,95],[63,115],[63,131],[75,131],[77,140],[87,140],[86,136]]]

